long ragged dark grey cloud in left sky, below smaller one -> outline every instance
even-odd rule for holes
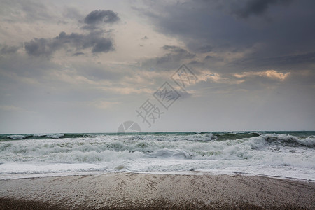
[[[111,39],[102,37],[102,32],[91,32],[90,34],[61,32],[55,38],[34,38],[25,43],[27,54],[34,56],[50,57],[54,52],[66,47],[76,50],[92,48],[91,52],[109,52],[114,50]]]

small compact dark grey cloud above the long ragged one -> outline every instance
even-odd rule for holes
[[[113,23],[119,20],[118,14],[112,10],[94,10],[84,18],[84,22],[94,25],[99,22]]]

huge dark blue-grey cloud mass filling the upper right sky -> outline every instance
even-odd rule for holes
[[[279,67],[287,64],[281,61],[285,57],[291,63],[298,61],[301,69],[303,62],[314,64],[304,54],[314,52],[315,1],[145,2],[148,7],[137,11],[156,31],[179,38],[190,52],[211,53],[207,65],[216,62],[218,71],[240,71],[262,64],[264,59],[274,59],[274,66],[269,68]],[[266,21],[266,15],[272,21]],[[304,58],[294,58],[299,56]],[[161,57],[161,61],[172,61],[169,57],[172,55]],[[244,60],[251,60],[250,66]],[[237,62],[244,66],[235,68]]]

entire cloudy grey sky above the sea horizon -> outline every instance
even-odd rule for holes
[[[315,130],[314,10],[0,0],[0,133]]]

